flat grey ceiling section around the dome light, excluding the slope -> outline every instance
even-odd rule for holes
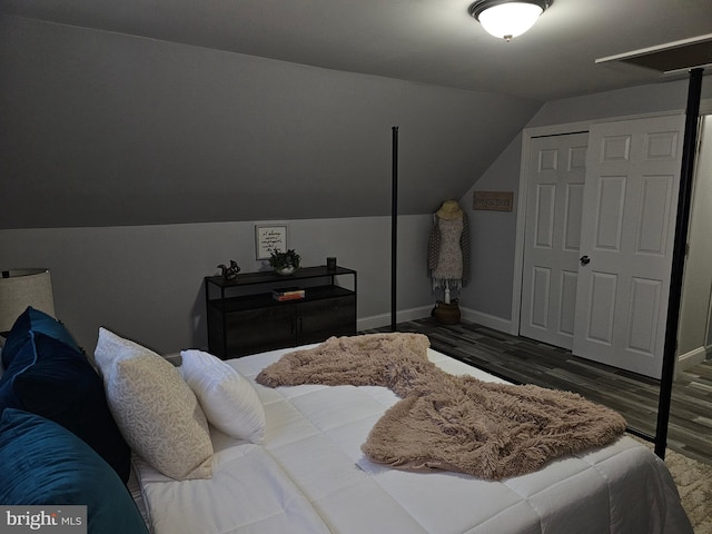
[[[555,0],[511,42],[469,0],[3,0],[0,12],[548,101],[659,79],[597,58],[712,32],[709,0]],[[533,67],[535,66],[535,67]]]

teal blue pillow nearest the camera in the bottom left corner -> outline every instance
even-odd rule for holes
[[[113,469],[81,439],[39,415],[4,411],[0,473],[3,505],[86,505],[90,533],[148,533]]]

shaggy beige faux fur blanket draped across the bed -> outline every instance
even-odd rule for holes
[[[263,369],[265,386],[385,386],[402,399],[363,452],[402,469],[438,468],[501,479],[611,443],[625,429],[612,409],[568,392],[454,376],[427,358],[421,334],[333,337]]]

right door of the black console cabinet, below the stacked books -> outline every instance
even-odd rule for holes
[[[319,343],[332,336],[356,334],[356,297],[300,303],[297,308],[297,343]]]

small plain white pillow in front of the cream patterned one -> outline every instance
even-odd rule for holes
[[[265,408],[249,380],[202,350],[182,350],[180,355],[182,377],[210,424],[228,436],[261,443]]]

